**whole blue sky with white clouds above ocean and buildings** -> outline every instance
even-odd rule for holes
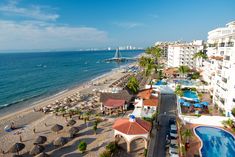
[[[1,0],[0,51],[206,40],[233,20],[235,0]]]

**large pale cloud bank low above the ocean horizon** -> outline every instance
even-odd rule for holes
[[[71,27],[41,21],[0,20],[0,50],[94,47],[107,42],[107,33],[92,27]]]

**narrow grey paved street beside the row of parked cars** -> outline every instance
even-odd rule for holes
[[[176,115],[175,94],[161,94],[158,121],[160,129],[157,131],[153,157],[165,157],[166,133],[169,131],[169,119]]]

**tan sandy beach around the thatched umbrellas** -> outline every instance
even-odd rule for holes
[[[133,63],[135,64],[135,63]],[[66,127],[66,121],[65,118],[62,116],[55,116],[53,113],[44,114],[43,112],[35,112],[34,110],[38,110],[40,108],[43,108],[45,106],[48,106],[58,100],[63,100],[65,98],[70,97],[71,95],[74,95],[75,93],[80,94],[88,94],[88,93],[94,93],[95,90],[103,90],[108,89],[108,87],[115,81],[120,79],[126,75],[126,73],[123,73],[120,69],[113,70],[101,77],[98,77],[97,79],[93,79],[92,81],[89,81],[87,83],[84,83],[80,85],[77,88],[71,89],[69,91],[66,91],[64,93],[61,93],[59,95],[52,96],[50,98],[47,98],[37,104],[35,104],[32,107],[23,109],[21,111],[18,111],[16,113],[9,114],[7,116],[0,118],[0,150],[1,151],[8,151],[9,148],[16,142],[20,141],[20,137],[23,139],[23,143],[26,145],[26,148],[22,150],[21,154],[26,153],[30,151],[31,147],[33,146],[34,139],[39,135],[47,136],[48,138],[48,145],[51,145],[51,142],[56,137],[66,137],[68,136],[68,127]],[[98,110],[98,108],[97,108]],[[74,118],[74,117],[73,117]],[[75,117],[76,119],[76,117]],[[95,153],[92,155],[92,151],[89,152],[89,154],[86,154],[85,156],[97,156],[97,151],[99,148],[102,148],[102,146],[107,144],[107,140],[110,141],[112,139],[112,131],[110,130],[110,127],[100,127],[98,129],[98,133],[101,133],[97,138],[92,138],[93,130],[92,130],[92,124],[88,124],[87,126],[83,126],[84,123],[83,120],[76,119],[77,123],[76,126],[79,126],[79,128],[82,130],[79,132],[79,134],[84,134],[82,138],[88,138],[85,141],[88,142],[89,148],[88,150],[93,150]],[[11,124],[14,122],[16,127],[22,127],[21,129],[16,129],[10,133],[4,132],[4,127],[6,125]],[[45,124],[46,123],[46,124]],[[91,123],[91,122],[90,122]],[[58,135],[51,132],[50,128],[54,124],[60,124],[64,126],[64,129],[62,132],[60,132]],[[101,123],[102,125],[109,125],[109,123]],[[89,127],[90,126],[90,127]],[[33,129],[36,130],[36,133],[33,133]],[[91,136],[92,134],[92,136]],[[108,138],[107,138],[108,137]],[[71,146],[71,152],[61,152],[61,150],[47,150],[46,152],[51,154],[52,156],[84,156],[84,154],[80,154],[77,151],[77,144],[79,143],[81,139],[76,139],[75,141],[69,141],[67,145]],[[95,142],[91,142],[92,140],[95,140]],[[89,143],[90,141],[90,143]],[[48,146],[50,148],[50,146]],[[71,155],[70,153],[76,152],[74,155]],[[62,153],[62,154],[61,154]],[[67,155],[66,155],[67,154]],[[70,154],[70,155],[68,155]],[[1,156],[1,155],[0,155]],[[12,154],[2,154],[2,156],[12,156]],[[26,155],[27,156],[27,155]]]

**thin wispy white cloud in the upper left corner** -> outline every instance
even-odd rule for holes
[[[29,7],[19,7],[19,1],[10,0],[7,4],[0,6],[0,12],[4,15],[21,16],[43,21],[55,21],[59,18],[56,13],[49,13],[54,10],[49,6],[32,5]]]

